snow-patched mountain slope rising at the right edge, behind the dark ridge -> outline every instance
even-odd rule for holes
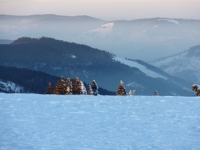
[[[200,45],[175,55],[157,59],[150,64],[171,75],[200,84]]]

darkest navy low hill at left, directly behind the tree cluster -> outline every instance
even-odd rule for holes
[[[44,72],[8,66],[0,66],[0,72],[0,92],[6,93],[44,94],[48,82],[51,82],[53,89],[55,89],[56,83],[60,79],[60,77]],[[71,81],[74,82],[73,79]],[[86,88],[88,87],[88,84],[84,83],[84,85]],[[115,92],[99,87],[99,94],[114,95]]]

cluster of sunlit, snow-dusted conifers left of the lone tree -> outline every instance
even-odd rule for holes
[[[64,80],[63,76],[56,84],[55,90],[52,88],[51,83],[48,83],[46,89],[46,94],[62,94],[62,95],[98,95],[98,86],[95,80],[92,80],[92,84],[88,86],[88,91],[86,90],[84,83],[79,80],[78,77],[75,78],[74,83],[70,81],[70,78]]]

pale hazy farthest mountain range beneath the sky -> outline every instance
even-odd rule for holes
[[[52,37],[107,50],[119,57],[151,61],[200,44],[200,20],[105,21],[89,16],[0,15],[0,39],[22,36]]]

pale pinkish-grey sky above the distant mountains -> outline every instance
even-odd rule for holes
[[[88,15],[104,20],[154,17],[200,20],[200,0],[0,0],[0,14]]]

